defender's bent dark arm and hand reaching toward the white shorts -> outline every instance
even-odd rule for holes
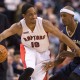
[[[60,48],[61,48],[60,52],[54,61],[49,61],[47,63],[44,63],[44,70],[47,71],[50,68],[58,66],[59,64],[61,64],[65,60],[66,57],[74,58],[76,56],[75,52],[66,51],[67,46],[64,43],[60,44]]]

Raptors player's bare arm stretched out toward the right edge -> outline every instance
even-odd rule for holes
[[[80,55],[79,47],[65,34],[63,34],[56,26],[47,20],[43,20],[43,27],[46,32],[52,33],[53,35],[57,36],[62,42],[68,45],[70,48],[75,49],[78,55]]]

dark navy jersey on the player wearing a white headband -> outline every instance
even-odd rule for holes
[[[71,38],[80,47],[80,22],[78,22],[77,28],[72,36],[68,35],[66,27],[63,29],[63,33]]]

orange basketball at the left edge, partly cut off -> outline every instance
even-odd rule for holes
[[[0,63],[4,62],[7,59],[7,54],[7,49],[3,45],[0,45]]]

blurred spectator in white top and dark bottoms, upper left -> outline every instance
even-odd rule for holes
[[[9,18],[11,24],[15,22],[15,12],[17,10],[17,6],[21,3],[22,0],[4,0],[6,7],[6,15]]]

